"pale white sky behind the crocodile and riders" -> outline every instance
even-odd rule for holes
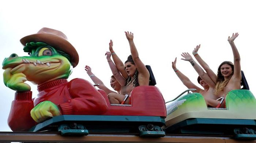
[[[168,101],[187,89],[171,67],[175,57],[177,68],[197,84],[197,73],[188,61],[180,60],[180,54],[192,53],[201,44],[198,53],[217,72],[222,61],[233,62],[227,37],[238,32],[235,44],[241,68],[255,95],[255,13],[255,3],[249,0],[5,0],[0,1],[0,60],[11,53],[27,56],[19,42],[22,37],[42,27],[57,29],[67,35],[80,56],[68,80],[92,82],[84,71],[89,65],[111,88],[112,73],[105,58],[109,40],[125,61],[130,50],[124,31],[132,31],[140,59],[151,65],[156,86]],[[35,97],[37,87],[31,87]],[[10,131],[7,118],[15,91],[4,86],[2,76],[0,92],[0,131]]]

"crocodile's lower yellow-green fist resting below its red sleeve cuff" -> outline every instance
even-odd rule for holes
[[[35,120],[35,122],[40,123],[49,117],[59,116],[60,110],[54,103],[50,101],[44,101],[37,104],[37,106],[35,106],[30,111],[30,115]]]

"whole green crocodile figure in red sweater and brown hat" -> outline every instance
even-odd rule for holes
[[[107,110],[105,99],[91,83],[84,79],[67,81],[79,56],[64,33],[42,28],[20,42],[29,56],[13,53],[2,64],[5,86],[16,91],[8,118],[13,131],[26,131],[52,116],[96,115]],[[37,98],[32,99],[26,81],[38,85]]]

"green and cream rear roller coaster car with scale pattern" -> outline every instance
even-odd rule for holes
[[[226,96],[226,108],[207,108],[203,96],[191,93],[166,104],[166,134],[229,135],[256,139],[256,100],[242,72],[240,90]]]

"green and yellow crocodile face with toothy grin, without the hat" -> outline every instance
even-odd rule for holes
[[[42,42],[30,42],[24,47],[30,56],[15,53],[3,61],[3,69],[11,74],[23,73],[28,81],[42,84],[56,79],[67,79],[72,72],[70,56]]]

